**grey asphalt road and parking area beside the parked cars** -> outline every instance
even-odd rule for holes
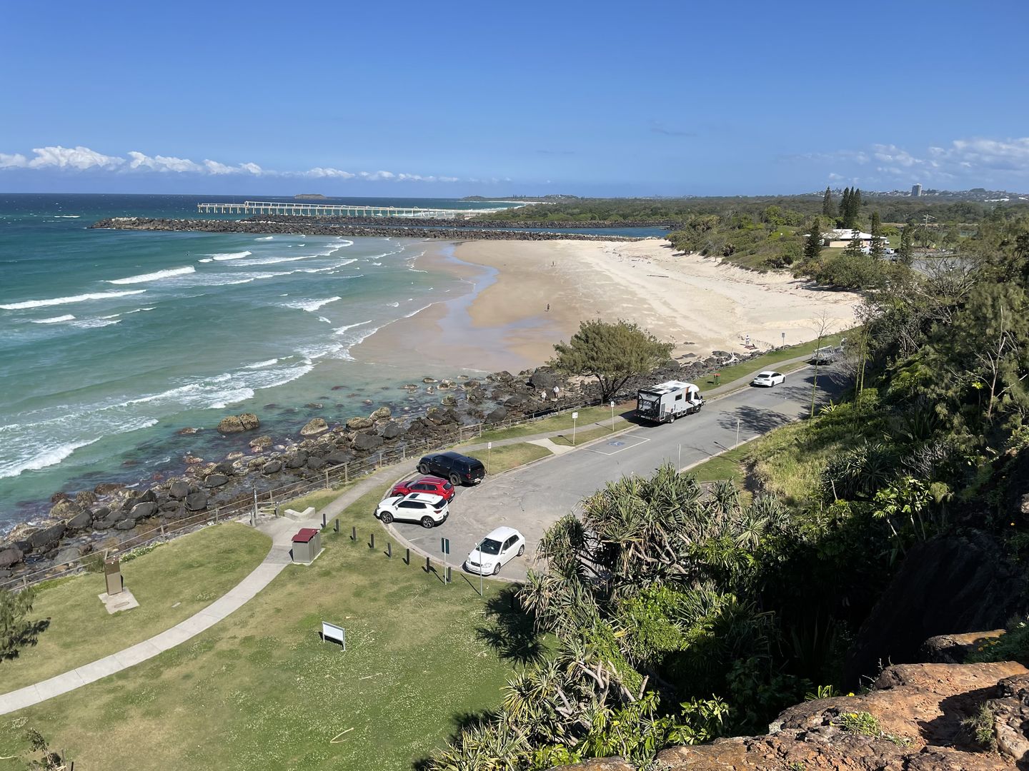
[[[460,565],[494,527],[516,527],[528,542],[526,556],[509,562],[501,576],[523,579],[546,528],[569,511],[576,511],[578,503],[605,482],[633,473],[649,475],[668,462],[683,468],[703,461],[736,444],[737,426],[743,442],[795,420],[810,410],[813,379],[813,368],[805,367],[788,374],[781,386],[743,389],[673,424],[641,426],[611,440],[488,477],[477,487],[459,490],[451,504],[451,517],[442,525],[431,530],[407,523],[394,523],[393,527],[436,558],[441,556],[440,538],[449,538],[447,561],[453,565]],[[843,384],[832,368],[819,369],[820,400],[835,398]]]

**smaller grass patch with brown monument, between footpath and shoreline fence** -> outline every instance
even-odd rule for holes
[[[32,618],[49,619],[49,626],[35,646],[0,662],[0,692],[52,677],[175,626],[236,586],[271,547],[268,536],[237,522],[158,546],[122,563],[126,587],[139,608],[113,616],[97,597],[105,591],[103,574],[40,585]]]

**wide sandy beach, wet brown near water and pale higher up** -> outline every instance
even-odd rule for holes
[[[434,351],[428,360],[470,369],[538,366],[586,319],[628,319],[673,342],[673,356],[709,356],[804,342],[853,326],[859,301],[787,273],[744,270],[681,255],[668,242],[463,242],[421,258],[457,271],[468,293],[403,319],[355,347],[389,359],[400,340]],[[785,336],[784,336],[785,335]],[[438,356],[436,355],[438,354]]]

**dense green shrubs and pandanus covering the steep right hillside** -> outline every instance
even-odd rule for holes
[[[967,254],[865,288],[849,396],[699,470],[744,482],[751,503],[734,480],[705,490],[668,467],[609,483],[581,519],[555,524],[547,568],[520,597],[557,652],[433,768],[613,752],[642,767],[666,744],[762,732],[805,693],[875,674],[851,657],[908,553],[979,534],[998,545],[992,562],[1024,563],[1029,218],[987,223]],[[1005,597],[994,618],[1027,602]],[[979,660],[1024,659],[1025,629],[1014,622]]]

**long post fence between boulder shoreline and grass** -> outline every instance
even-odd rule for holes
[[[135,533],[123,540],[118,540],[116,544],[105,547],[105,549],[96,550],[91,554],[85,554],[66,562],[51,564],[37,571],[25,572],[19,576],[8,578],[0,582],[0,589],[17,591],[43,581],[74,576],[88,571],[99,572],[103,565],[103,553],[108,549],[123,555],[146,546],[166,543],[180,536],[193,533],[201,527],[217,524],[218,522],[238,520],[244,517],[249,517],[250,521],[253,522],[261,508],[278,507],[281,504],[288,503],[315,490],[329,488],[338,484],[349,484],[369,474],[374,474],[383,467],[406,463],[409,460],[420,457],[425,452],[443,449],[482,437],[484,431],[526,426],[546,417],[553,417],[598,404],[600,402],[596,399],[575,404],[555,404],[542,410],[535,410],[529,414],[506,418],[497,423],[454,426],[446,434],[436,434],[423,441],[405,439],[388,449],[379,450],[365,457],[356,458],[346,464],[332,466],[324,471],[312,472],[308,470],[306,473],[311,476],[307,479],[299,479],[295,482],[263,491],[257,491],[254,488],[249,494],[240,493],[235,501],[216,506],[214,509],[188,515],[182,519],[176,519],[172,522],[144,524],[141,527],[137,527],[140,530],[139,533]],[[289,469],[286,470],[289,471]],[[296,471],[299,472],[300,469]]]

